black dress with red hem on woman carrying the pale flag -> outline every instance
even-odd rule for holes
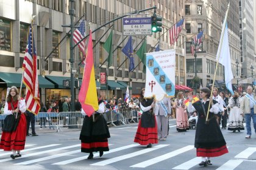
[[[209,121],[205,124],[209,103],[209,100],[207,100],[205,104],[199,100],[192,104],[199,114],[196,125],[196,137],[194,140],[197,157],[218,157],[229,152],[227,151],[226,141],[224,140],[213,112],[209,112]],[[218,102],[213,100],[213,103]],[[211,108],[212,106],[210,106],[210,109]],[[191,112],[191,110],[189,110],[189,112]],[[216,113],[218,113],[218,111]]]

